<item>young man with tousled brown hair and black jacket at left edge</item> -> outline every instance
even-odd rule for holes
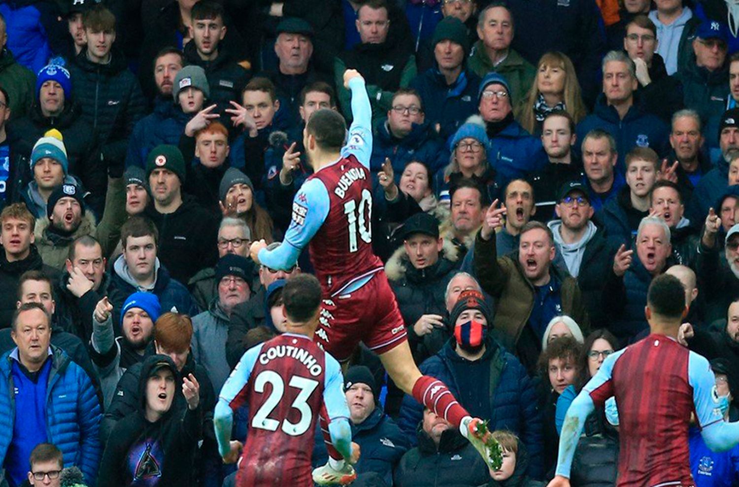
[[[0,213],[0,327],[9,327],[16,310],[18,279],[28,270],[41,270],[56,280],[59,271],[45,265],[34,245],[36,219],[26,205],[14,203]]]

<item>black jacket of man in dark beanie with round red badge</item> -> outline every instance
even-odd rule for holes
[[[159,231],[157,256],[174,279],[186,284],[200,269],[216,264],[218,221],[193,197],[183,194],[174,213],[162,214],[154,205],[145,213]]]

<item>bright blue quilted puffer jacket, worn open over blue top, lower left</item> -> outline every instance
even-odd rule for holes
[[[47,437],[64,455],[64,466],[77,466],[92,486],[103,452],[99,435],[102,413],[95,386],[84,370],[60,348],[51,345],[52,368],[47,387]],[[16,404],[13,395],[13,358],[0,357],[0,458],[13,441]]]

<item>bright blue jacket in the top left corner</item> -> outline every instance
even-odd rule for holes
[[[50,38],[54,41],[58,35],[55,25],[61,15],[58,7],[53,1],[3,1],[0,13],[5,18],[7,48],[13,52],[18,64],[35,75],[47,65],[52,55],[49,41]]]

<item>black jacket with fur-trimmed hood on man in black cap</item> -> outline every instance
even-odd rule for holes
[[[418,336],[413,330],[413,325],[422,315],[440,315],[446,319],[444,295],[446,285],[457,272],[458,258],[457,248],[452,242],[445,240],[439,260],[427,268],[413,267],[402,247],[393,253],[385,265],[385,273],[401,309],[403,321],[408,329],[413,358],[417,364],[435,355],[451,336],[446,328]]]

